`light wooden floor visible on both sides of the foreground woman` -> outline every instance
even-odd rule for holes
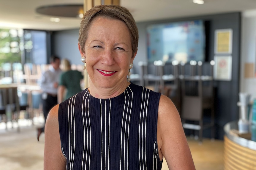
[[[31,124],[31,122],[27,122]],[[197,170],[222,170],[223,141],[204,139],[198,141],[187,138]],[[20,133],[15,129],[1,130],[0,123],[0,169],[1,170],[42,170],[44,135],[36,139],[36,127],[26,125]],[[162,170],[168,170],[164,160]]]

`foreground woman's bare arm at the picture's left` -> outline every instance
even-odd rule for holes
[[[50,110],[45,124],[44,170],[66,169],[66,158],[61,152],[58,120],[59,105]]]

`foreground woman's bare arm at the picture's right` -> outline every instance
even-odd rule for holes
[[[169,169],[195,169],[178,111],[164,95],[161,95],[159,101],[157,143],[159,157],[161,160],[165,157]]]

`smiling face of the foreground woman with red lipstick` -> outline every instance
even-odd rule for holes
[[[82,56],[91,83],[97,88],[113,88],[125,83],[132,56],[129,30],[120,20],[95,18],[88,31]]]

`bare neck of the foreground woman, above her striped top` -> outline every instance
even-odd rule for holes
[[[130,85],[130,82],[123,82],[111,88],[96,87],[90,82],[88,88],[90,94],[95,98],[113,98],[124,92],[124,90]]]

